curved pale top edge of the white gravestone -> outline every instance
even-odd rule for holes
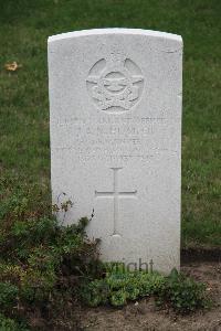
[[[48,39],[48,43],[67,40],[72,38],[80,38],[80,36],[88,36],[88,35],[107,35],[107,34],[129,34],[129,35],[146,35],[146,36],[155,36],[155,38],[162,38],[167,40],[173,40],[179,43],[182,43],[181,35],[154,31],[154,30],[144,30],[144,29],[126,29],[126,28],[107,28],[107,29],[91,29],[91,30],[81,30],[81,31],[73,31],[66,33],[60,33],[55,35],[51,35]]]

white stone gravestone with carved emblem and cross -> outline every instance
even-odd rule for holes
[[[181,61],[169,33],[49,38],[53,203],[73,201],[66,224],[94,210],[87,234],[103,260],[179,268]]]

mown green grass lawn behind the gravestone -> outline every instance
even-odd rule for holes
[[[106,26],[181,34],[182,245],[220,245],[220,0],[0,0],[2,175],[49,190],[49,35]],[[22,67],[9,73],[13,61]]]

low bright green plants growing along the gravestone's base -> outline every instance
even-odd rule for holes
[[[115,307],[129,300],[154,296],[158,306],[167,305],[180,313],[207,308],[209,300],[206,286],[179,274],[176,269],[169,276],[143,270],[129,271],[114,267],[104,279],[96,279],[82,288],[83,300],[96,307],[109,303]]]

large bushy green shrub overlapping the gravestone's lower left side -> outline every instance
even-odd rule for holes
[[[70,201],[60,203],[53,212],[65,214],[71,205]],[[49,201],[35,186],[0,180],[2,323],[29,320],[34,310],[52,317],[65,302],[70,307],[77,300],[82,281],[99,277],[97,242],[87,238],[87,223],[88,218],[82,217],[65,226],[52,215]]]

